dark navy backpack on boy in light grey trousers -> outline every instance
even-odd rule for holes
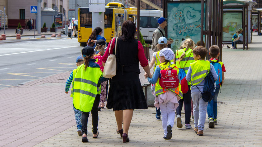
[[[196,85],[197,86],[197,85]],[[201,92],[202,94],[202,99],[205,102],[210,102],[211,100],[213,100],[213,97],[215,95],[215,91],[217,88],[217,84],[216,81],[213,78],[213,75],[209,73],[205,76],[205,84],[204,84],[204,88],[203,88],[203,92],[201,92],[199,90],[199,88],[197,87],[197,89]]]

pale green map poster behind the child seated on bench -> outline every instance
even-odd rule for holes
[[[242,27],[242,12],[223,12],[223,42],[231,42],[233,35]]]

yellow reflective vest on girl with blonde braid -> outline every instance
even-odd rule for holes
[[[184,51],[186,50],[186,48],[181,49],[181,50],[176,50],[176,54],[175,54],[175,64],[178,67],[178,69],[184,69],[185,73],[188,73],[188,68],[190,66],[190,63],[195,62],[194,58],[193,58],[193,52],[192,49],[189,48],[186,51],[186,55],[184,56],[184,58],[181,61],[177,61],[179,59],[179,57],[184,53]],[[190,85],[190,83],[188,82],[188,85]]]

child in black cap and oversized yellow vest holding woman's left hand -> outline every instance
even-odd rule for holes
[[[98,105],[100,100],[100,84],[108,80],[102,76],[99,65],[95,63],[95,49],[87,46],[82,48],[84,63],[77,67],[74,77],[73,104],[82,111],[82,142],[87,142],[87,119],[92,114],[93,138],[98,137]]]

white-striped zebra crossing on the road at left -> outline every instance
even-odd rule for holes
[[[79,47],[77,39],[51,39],[0,44],[0,56],[27,52]]]

